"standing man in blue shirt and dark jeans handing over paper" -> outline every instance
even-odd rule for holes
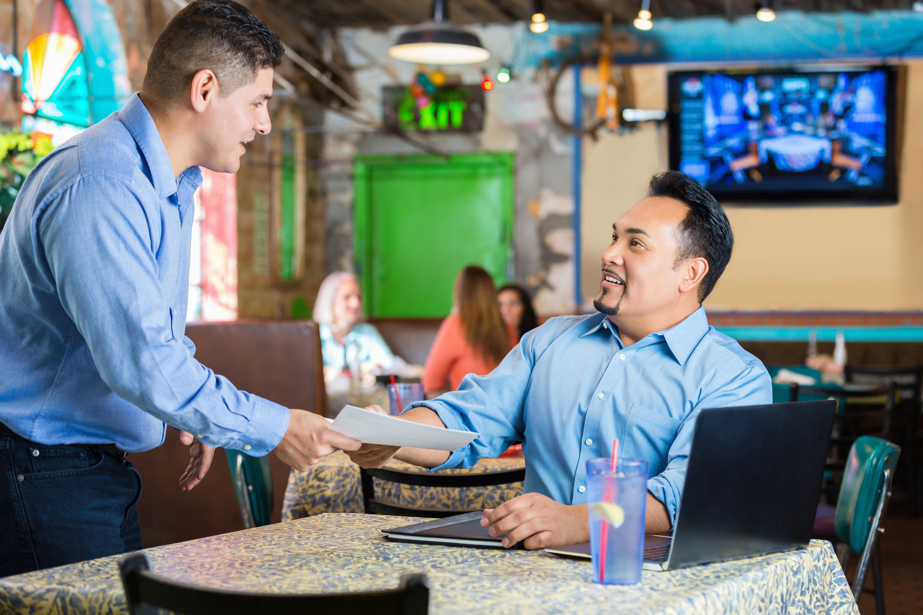
[[[0,235],[0,576],[141,548],[126,452],[192,444],[306,469],[360,443],[238,391],[184,337],[199,166],[234,172],[270,132],[282,41],[231,0],[197,0],[154,44],[140,95],[26,179]],[[195,434],[193,436],[193,434]]]

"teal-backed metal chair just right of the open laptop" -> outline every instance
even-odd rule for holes
[[[846,458],[840,498],[836,503],[833,527],[836,536],[849,546],[848,551],[859,554],[856,577],[853,579],[853,596],[856,602],[863,591],[875,595],[875,612],[884,615],[884,591],[881,585],[881,557],[879,534],[884,533],[881,519],[888,509],[894,467],[901,455],[897,444],[876,438],[860,436],[849,449]],[[846,552],[843,569],[849,561]],[[864,589],[866,574],[872,562],[874,589]]]

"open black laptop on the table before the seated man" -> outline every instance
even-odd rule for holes
[[[671,533],[645,537],[646,570],[808,546],[836,402],[703,409]],[[590,543],[545,549],[589,559]]]

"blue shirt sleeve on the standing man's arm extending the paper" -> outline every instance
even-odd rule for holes
[[[211,446],[266,455],[289,411],[239,391],[174,331],[156,258],[159,229],[126,183],[84,176],[36,218],[62,305],[114,393]]]

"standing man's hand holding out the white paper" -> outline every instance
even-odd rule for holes
[[[330,431],[323,417],[305,410],[290,409],[289,427],[272,452],[296,470],[306,472],[337,449],[358,451],[362,443]]]

